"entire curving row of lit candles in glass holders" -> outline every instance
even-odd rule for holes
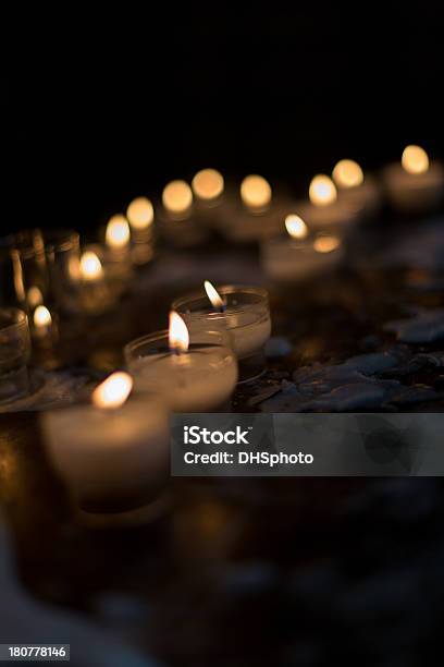
[[[442,196],[444,172],[422,148],[408,146],[399,165],[383,170],[383,183],[394,206],[425,211]],[[160,233],[178,246],[200,243],[214,228],[235,243],[259,242],[266,274],[273,281],[297,282],[337,266],[344,235],[380,202],[380,184],[353,160],[341,160],[332,178],[314,177],[303,202],[274,194],[260,175],[244,179],[235,193],[218,171],[206,169],[190,185],[169,183],[156,216],[151,202],[138,197],[125,216],[109,220],[102,244],[69,254],[64,274],[77,288],[70,303],[90,314],[115,304],[135,267],[153,256],[155,217]],[[16,276],[14,282],[20,283]],[[45,344],[57,322],[40,287],[21,289],[33,336]],[[26,314],[2,311],[0,342],[14,351],[10,356],[27,354],[26,326]],[[92,505],[115,495],[125,502],[149,495],[168,473],[169,412],[226,410],[236,384],[263,372],[270,332],[263,289],[214,288],[206,281],[200,292],[175,300],[168,331],[126,345],[128,373],[112,374],[87,404],[42,414],[51,458],[74,495]],[[7,364],[4,359],[3,352],[3,387],[11,367],[16,371],[8,354]],[[11,377],[7,381],[11,386]],[[8,398],[8,387],[3,393]]]

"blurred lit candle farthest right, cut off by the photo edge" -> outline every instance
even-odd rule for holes
[[[443,166],[436,160],[430,162],[420,146],[406,146],[400,163],[387,165],[382,177],[392,206],[399,210],[431,210],[443,198]]]

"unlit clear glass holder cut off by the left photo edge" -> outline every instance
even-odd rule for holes
[[[29,354],[26,314],[18,308],[0,308],[0,403],[29,392]]]

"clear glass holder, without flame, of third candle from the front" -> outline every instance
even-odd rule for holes
[[[172,310],[185,320],[192,335],[205,329],[225,330],[239,365],[239,383],[252,380],[266,372],[264,345],[271,333],[267,290],[225,284],[217,288],[224,301],[218,312],[203,290],[176,299]]]

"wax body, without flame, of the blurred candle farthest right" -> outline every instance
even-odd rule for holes
[[[383,169],[382,178],[392,205],[400,210],[434,208],[444,195],[444,169],[437,161],[431,162],[424,173],[408,173],[394,162]]]

